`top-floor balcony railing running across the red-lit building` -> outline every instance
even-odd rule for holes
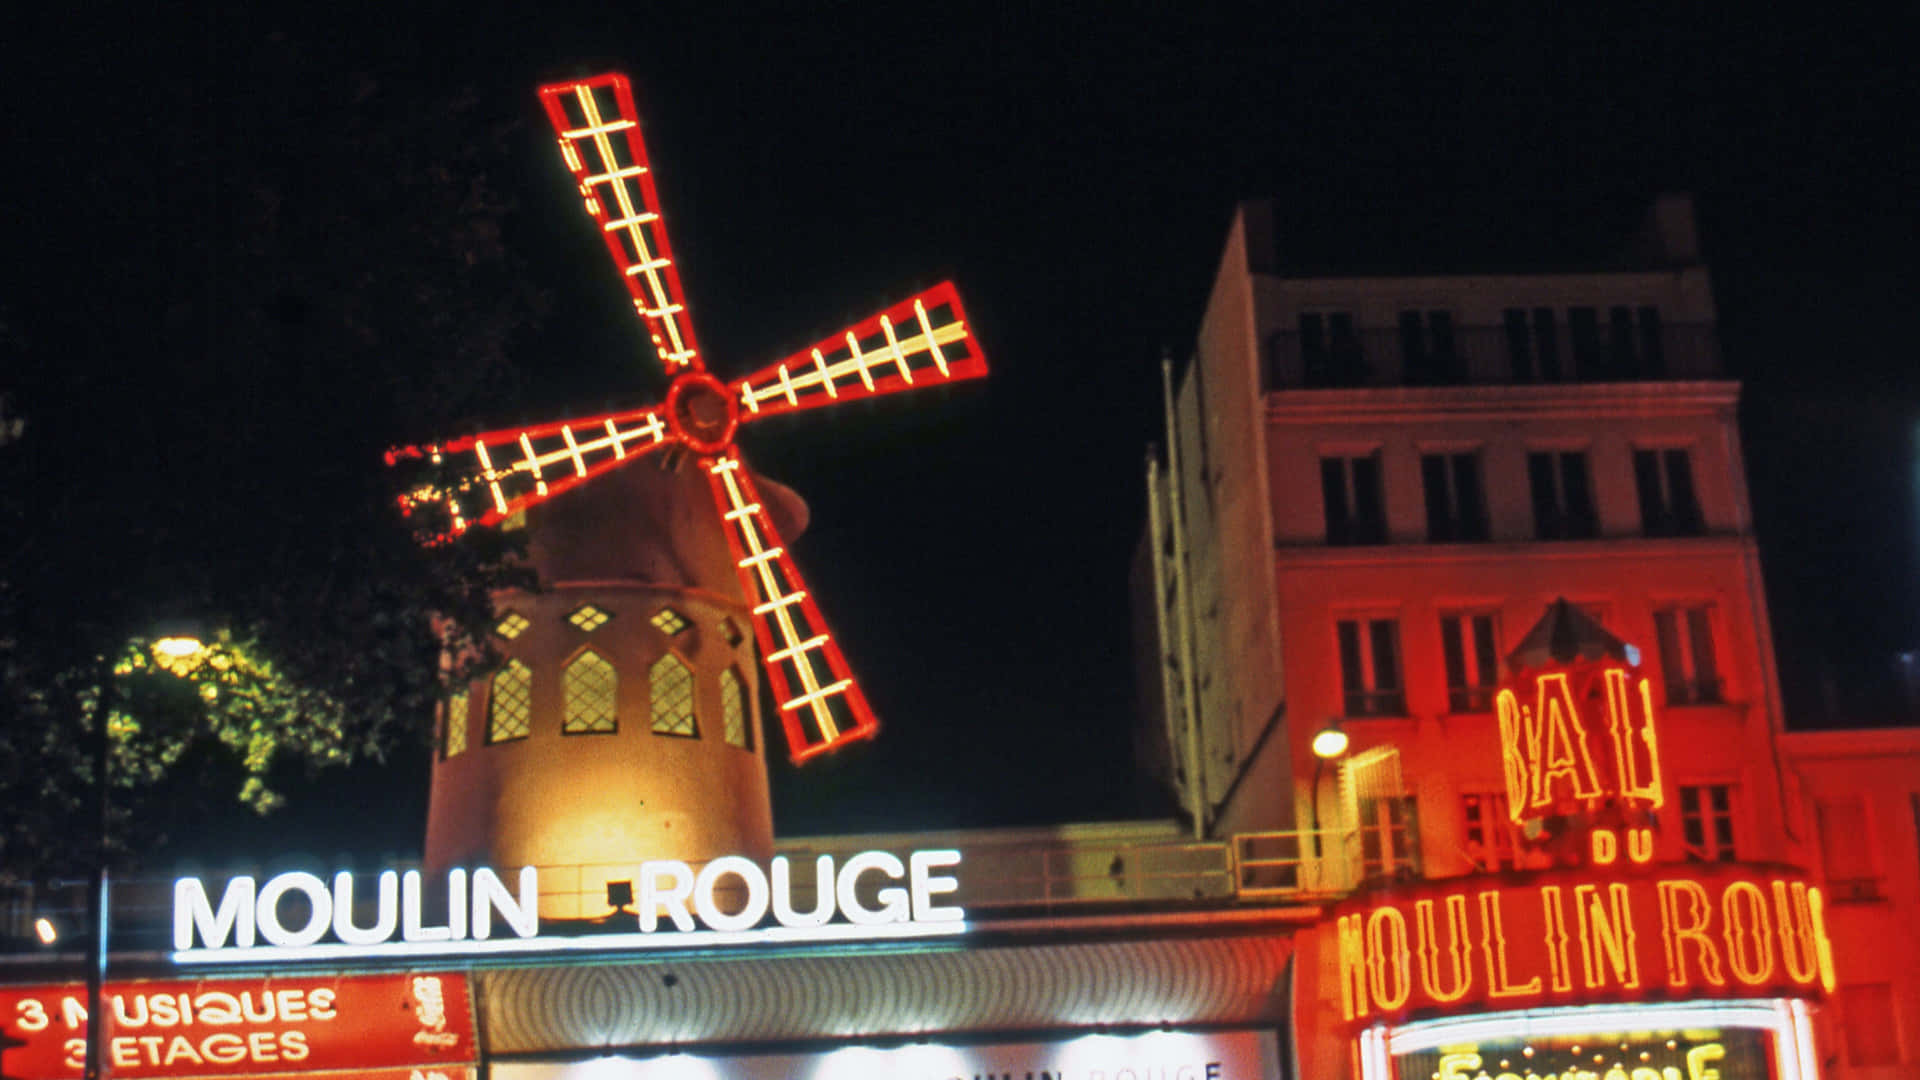
[[[1296,331],[1275,331],[1261,342],[1263,386],[1302,390],[1334,386],[1452,386],[1521,382],[1640,382],[1661,379],[1718,379],[1720,359],[1713,325],[1670,323],[1659,331],[1659,348],[1615,350],[1611,327],[1597,342],[1580,342],[1572,329],[1557,329],[1557,371],[1542,371],[1536,342],[1528,338],[1524,363],[1517,365],[1505,327],[1457,327],[1450,352],[1427,352],[1407,363],[1398,329],[1363,329],[1304,348]]]

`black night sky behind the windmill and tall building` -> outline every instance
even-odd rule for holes
[[[812,505],[795,553],[885,724],[799,774],[776,765],[780,832],[1164,813],[1129,734],[1142,454],[1158,357],[1190,350],[1231,208],[1252,196],[1281,200],[1283,259],[1394,267],[1586,258],[1655,192],[1693,192],[1722,352],[1747,382],[1789,723],[1899,719],[1891,696],[1843,690],[1920,646],[1912,27],[1540,6],[1475,23],[1354,6],[1252,21],[1110,4],[536,8],[23,15],[4,46],[15,234],[0,302],[31,331],[84,304],[98,271],[100,254],[61,246],[36,209],[63,183],[35,163],[36,140],[71,138],[61,86],[104,81],[125,102],[219,86],[219,67],[273,33],[355,69],[472,86],[482,111],[520,123],[507,238],[553,298],[515,350],[526,417],[662,384],[540,115],[543,81],[634,79],[722,377],[954,279],[989,380],[743,438]],[[401,755],[303,784],[267,828],[204,836],[407,851],[424,819],[415,788],[424,755]],[[342,798],[380,809],[342,821]]]

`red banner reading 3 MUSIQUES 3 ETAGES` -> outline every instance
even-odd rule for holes
[[[102,1065],[111,1076],[255,1076],[436,1068],[476,1061],[463,974],[113,982]],[[86,1059],[86,988],[0,988],[0,1076],[65,1080]]]

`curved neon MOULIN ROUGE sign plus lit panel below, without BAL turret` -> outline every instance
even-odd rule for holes
[[[1428,882],[1319,934],[1363,1080],[1816,1076],[1834,988],[1820,890],[1786,869]]]

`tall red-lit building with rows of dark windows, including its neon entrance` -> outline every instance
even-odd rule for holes
[[[1897,930],[1916,911],[1920,738],[1786,730],[1738,400],[1686,198],[1661,198],[1607,269],[1549,273],[1296,273],[1271,208],[1235,215],[1150,465],[1137,592],[1158,598],[1150,742],[1188,811],[1210,836],[1304,828],[1348,847],[1323,874],[1359,874],[1300,882],[1340,897],[1302,936],[1302,1076],[1709,1067],[1667,1036],[1636,1045],[1649,1030],[1718,1032],[1699,1053],[1724,1051],[1724,1076],[1920,1061],[1920,955]],[[1551,851],[1509,801],[1496,694],[1559,598],[1649,686],[1663,771],[1642,867]],[[1329,726],[1350,742],[1319,759]],[[1755,882],[1724,884],[1741,874]],[[1788,959],[1809,974],[1805,942],[1755,926],[1738,961],[1715,957],[1730,970],[1680,970],[1695,884],[1732,888],[1722,913],[1778,888],[1778,934],[1811,886],[1837,988],[1778,982]],[[1663,938],[1661,978],[1607,969],[1601,911],[1576,890],[1615,886],[1632,911],[1615,932],[1638,932],[1644,959]],[[1394,963],[1396,942],[1444,951],[1448,911],[1484,949],[1478,990]],[[1511,955],[1484,942],[1501,911]],[[1517,930],[1515,911],[1546,926]],[[1747,930],[1711,930],[1715,951]],[[1601,1032],[1620,1038],[1594,1045]]]

